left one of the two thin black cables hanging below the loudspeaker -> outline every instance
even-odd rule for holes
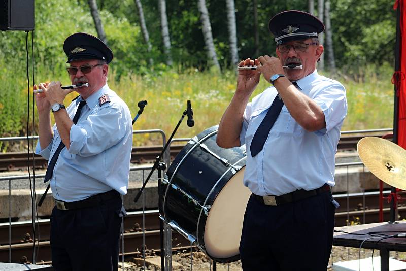
[[[36,263],[36,257],[35,257],[35,238],[36,238],[36,232],[35,232],[35,211],[34,211],[34,196],[32,195],[32,184],[31,184],[31,172],[29,170],[29,54],[28,54],[28,32],[25,31],[25,51],[27,53],[27,84],[28,84],[28,96],[27,96],[27,145],[28,145],[28,155],[27,155],[27,165],[28,165],[28,178],[29,178],[29,190],[31,193],[31,222],[32,222],[32,232],[33,232],[33,243],[32,243],[32,262],[35,264]]]

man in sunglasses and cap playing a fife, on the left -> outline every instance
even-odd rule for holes
[[[36,94],[36,153],[49,159],[44,182],[49,181],[56,203],[51,214],[52,265],[57,271],[117,270],[131,115],[107,85],[113,53],[103,41],[74,33],[63,50],[72,83],[88,86],[65,90],[60,82],[40,83],[42,92]],[[63,101],[74,90],[80,95],[65,108]]]

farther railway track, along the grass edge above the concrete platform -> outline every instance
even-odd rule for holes
[[[387,133],[373,135],[374,137],[386,136],[392,140],[392,136]],[[355,150],[360,139],[371,136],[370,133],[359,134],[357,136],[342,136],[339,141],[339,150]],[[183,148],[183,145],[171,146],[171,159],[173,159]],[[161,153],[161,146],[134,147],[131,152],[131,163],[146,163],[155,161],[155,158]],[[48,161],[39,155],[34,157],[35,168],[46,168]],[[29,156],[29,164],[32,166],[32,154]],[[0,153],[0,171],[13,171],[27,168],[26,152]]]

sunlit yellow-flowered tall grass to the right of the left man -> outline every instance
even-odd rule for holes
[[[377,73],[379,72],[379,74]],[[387,128],[393,125],[393,85],[390,66],[360,71],[356,75],[321,73],[341,82],[347,90],[348,115],[342,130]],[[183,111],[186,100],[192,101],[195,126],[189,128],[184,122],[176,137],[193,137],[208,127],[217,125],[231,100],[236,87],[236,74],[201,73],[188,70],[182,74],[167,72],[159,77],[136,75],[110,80],[109,86],[127,102],[131,112],[138,111],[139,100],[148,100],[143,115],[134,129],[159,128],[170,136]],[[269,83],[261,77],[252,97],[259,94]],[[148,140],[136,137],[134,144]],[[158,143],[154,140],[155,143]]]

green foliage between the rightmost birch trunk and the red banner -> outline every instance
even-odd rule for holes
[[[334,53],[339,66],[394,62],[393,1],[332,1]]]

